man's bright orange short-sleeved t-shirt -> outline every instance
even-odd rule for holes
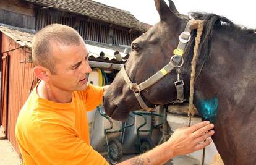
[[[103,88],[89,84],[62,104],[39,98],[34,88],[15,129],[23,164],[108,164],[90,146],[86,115],[102,96]]]

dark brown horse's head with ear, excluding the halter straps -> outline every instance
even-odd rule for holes
[[[162,69],[173,56],[173,50],[179,43],[179,35],[187,21],[177,16],[177,10],[170,1],[155,0],[160,22],[132,42],[132,53],[126,62],[125,70],[133,83],[141,83]],[[177,75],[166,75],[159,82],[141,92],[145,103],[163,104],[176,98],[174,81]],[[106,113],[113,119],[126,119],[130,111],[142,109],[130,90],[121,72],[117,74],[105,95]]]

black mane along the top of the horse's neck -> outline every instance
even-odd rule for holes
[[[251,38],[252,40],[256,39],[256,33],[253,29],[247,29],[245,27],[239,26],[231,22],[231,20],[227,19],[226,17],[222,17],[216,14],[205,14],[200,12],[192,12],[190,13],[192,18],[195,20],[204,20],[204,27],[203,27],[203,35],[200,41],[200,47],[198,48],[198,61],[197,61],[197,70],[196,70],[196,79],[200,72],[203,69],[203,65],[205,61],[210,58],[210,49],[211,49],[211,38],[213,35],[213,30],[217,28],[224,28],[229,32],[232,31],[239,35],[239,38]],[[228,32],[227,31],[227,32]],[[195,38],[196,31],[192,32],[192,38]],[[185,51],[185,58],[184,61],[187,63],[186,66],[190,67],[190,62],[192,61],[192,54],[194,50],[195,40],[192,40],[189,44],[187,44],[187,48]],[[189,68],[190,70],[190,68]]]

